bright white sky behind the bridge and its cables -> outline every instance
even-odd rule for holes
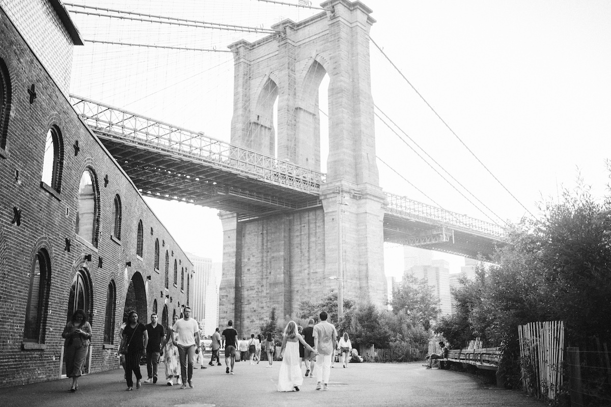
[[[257,0],[74,1],[263,28],[319,12]],[[611,144],[611,2],[378,0],[364,4],[373,9],[376,20],[371,38],[386,54],[370,43],[376,112],[390,117],[397,124],[395,132],[401,134],[376,118],[376,153],[401,174],[378,162],[384,190],[499,225],[540,216],[538,203],[557,200],[564,188],[576,186],[577,178],[591,185],[593,195],[604,196]],[[68,10],[85,40],[224,51],[241,38],[252,41],[263,36],[79,14],[73,12],[79,10],[75,6]],[[228,52],[87,42],[75,48],[70,89],[79,96],[230,139],[233,58]],[[415,150],[422,147],[454,179],[430,159],[431,165],[427,164],[408,145]],[[421,151],[420,156],[424,156]],[[214,262],[222,260],[218,211],[175,201],[146,201],[184,250]],[[397,245],[385,248],[387,276],[403,273],[402,251]],[[461,258],[439,257],[450,261],[451,272],[458,272],[463,264]]]

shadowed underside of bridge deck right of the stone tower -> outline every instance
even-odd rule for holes
[[[384,242],[474,259],[481,254],[488,260],[491,259],[497,245],[502,244],[497,236],[486,236],[452,226],[431,225],[390,213],[384,215]]]

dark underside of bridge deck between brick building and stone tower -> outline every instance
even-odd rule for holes
[[[93,129],[95,131],[95,129]],[[144,196],[179,200],[242,215],[320,206],[317,195],[244,176],[214,163],[95,131]]]

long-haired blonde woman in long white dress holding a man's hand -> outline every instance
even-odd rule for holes
[[[295,321],[287,323],[284,328],[284,337],[282,338],[282,347],[280,348],[280,372],[278,373],[278,391],[292,392],[299,391],[299,386],[304,381],[299,369],[299,342],[305,348],[314,352],[313,348],[305,342],[303,337],[297,333],[297,324]],[[318,355],[318,352],[315,352]]]

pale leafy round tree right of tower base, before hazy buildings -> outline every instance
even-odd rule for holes
[[[395,314],[405,312],[412,322],[422,324],[425,331],[441,312],[433,287],[426,279],[415,278],[409,272],[404,273],[399,289],[393,292],[390,305]]]

